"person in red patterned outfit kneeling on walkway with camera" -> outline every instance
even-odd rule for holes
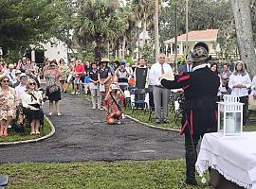
[[[106,122],[109,125],[120,124],[121,107],[123,105],[124,93],[117,84],[111,84],[104,99],[106,110]]]

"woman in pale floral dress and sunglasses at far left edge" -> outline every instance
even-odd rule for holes
[[[16,116],[19,99],[15,90],[9,87],[9,77],[1,77],[0,83],[0,136],[8,136],[8,127]]]

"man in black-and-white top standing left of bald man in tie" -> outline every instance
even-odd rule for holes
[[[143,58],[139,58],[135,69],[135,83],[137,89],[145,89],[149,86],[149,68]]]

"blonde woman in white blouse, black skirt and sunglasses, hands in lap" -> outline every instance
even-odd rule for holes
[[[30,134],[40,134],[39,128],[44,119],[44,113],[41,108],[42,93],[38,91],[37,83],[33,78],[27,80],[26,88],[27,90],[22,94],[21,100],[31,127]]]

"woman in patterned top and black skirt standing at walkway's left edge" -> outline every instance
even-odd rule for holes
[[[53,101],[55,101],[55,106],[57,110],[57,115],[62,115],[60,112],[61,103],[61,90],[60,90],[60,77],[63,73],[58,69],[57,62],[51,61],[48,69],[46,70],[46,95],[49,100],[49,115],[53,113]]]

